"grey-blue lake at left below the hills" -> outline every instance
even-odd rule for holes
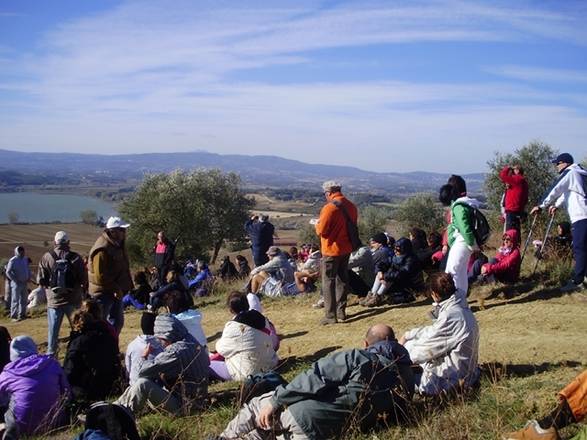
[[[15,212],[18,222],[49,223],[79,222],[80,212],[91,209],[105,219],[116,214],[113,203],[95,197],[71,194],[41,194],[33,192],[0,193],[0,223],[8,223]]]

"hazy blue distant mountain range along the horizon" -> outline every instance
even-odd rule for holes
[[[23,153],[0,150],[0,186],[64,182],[122,183],[139,180],[146,173],[175,169],[219,168],[238,173],[245,185],[272,188],[316,189],[324,180],[338,179],[349,191],[408,194],[436,191],[448,174],[414,171],[376,173],[338,165],[308,164],[278,156],[216,154],[204,151],[148,154]],[[483,191],[483,173],[463,175],[469,192]],[[318,186],[319,188],[319,186]]]

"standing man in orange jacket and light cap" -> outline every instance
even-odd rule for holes
[[[341,193],[341,184],[332,180],[322,184],[326,204],[316,222],[322,252],[322,293],[324,318],[322,325],[346,319],[348,262],[353,250],[347,231],[346,216],[357,223],[357,207]]]

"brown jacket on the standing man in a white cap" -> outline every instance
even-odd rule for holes
[[[128,256],[122,245],[103,232],[90,250],[88,259],[89,293],[92,297],[121,297],[133,288]]]

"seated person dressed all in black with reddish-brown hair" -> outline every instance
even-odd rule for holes
[[[63,370],[73,397],[85,402],[104,400],[117,391],[122,376],[118,342],[84,310],[73,314],[72,328]]]

